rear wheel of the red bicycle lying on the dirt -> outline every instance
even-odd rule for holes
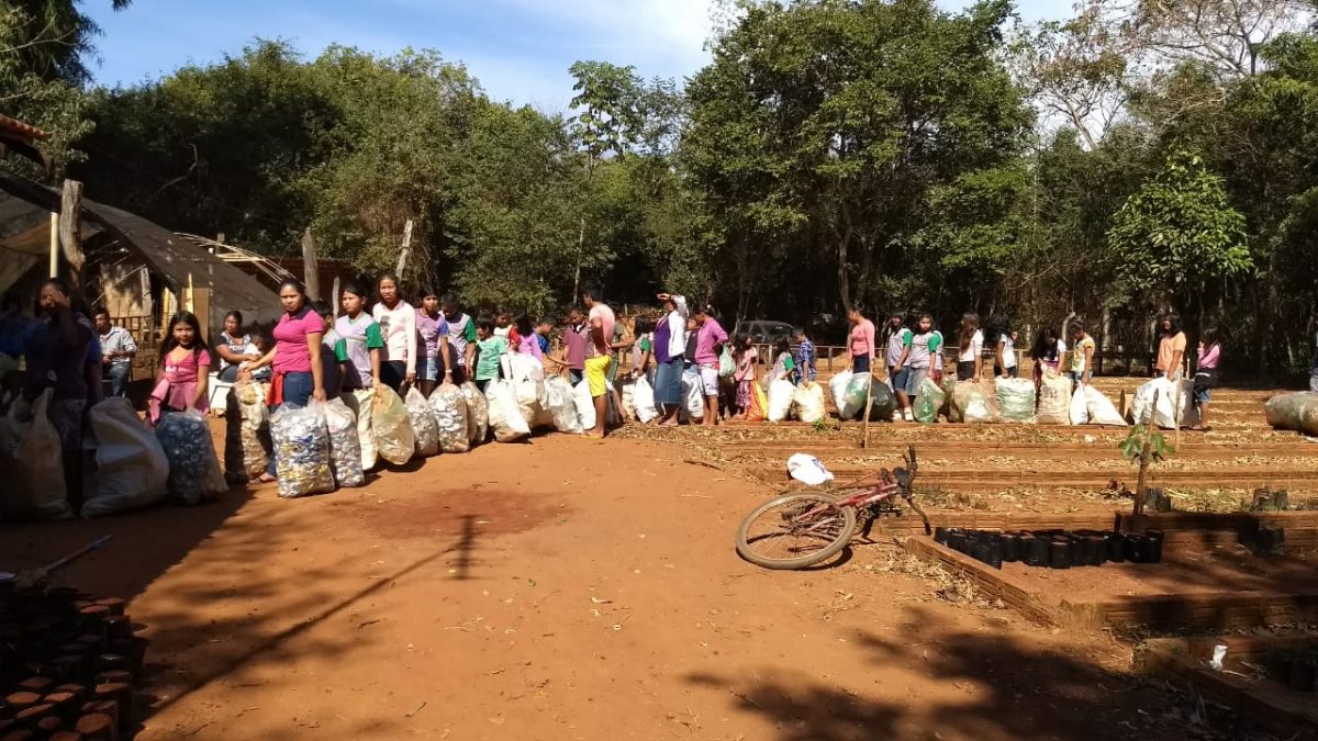
[[[737,527],[737,552],[764,568],[807,568],[833,558],[855,534],[855,508],[821,493],[770,500]]]

